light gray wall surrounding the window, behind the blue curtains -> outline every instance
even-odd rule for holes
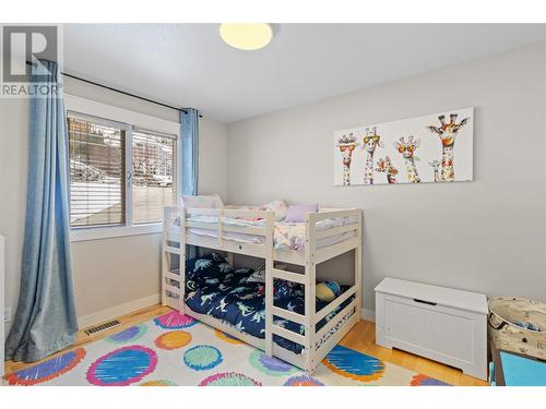
[[[178,121],[175,111],[75,81],[67,93]],[[0,99],[0,233],[7,238],[5,304],[15,312],[26,203],[28,101]],[[200,121],[200,191],[227,196],[226,125]],[[161,234],[72,243],[80,317],[159,292]],[[5,323],[7,334],[11,322]]]

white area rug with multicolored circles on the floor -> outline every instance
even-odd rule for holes
[[[429,386],[446,385],[336,346],[312,374],[176,311],[8,374],[10,385]],[[138,342],[138,344],[135,344]],[[305,356],[285,352],[305,362]]]

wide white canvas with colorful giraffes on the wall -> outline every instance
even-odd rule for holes
[[[474,108],[334,132],[334,184],[473,180]]]

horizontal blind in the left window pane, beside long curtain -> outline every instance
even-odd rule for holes
[[[123,129],[69,112],[71,226],[124,222]]]

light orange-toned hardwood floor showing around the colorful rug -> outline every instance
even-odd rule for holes
[[[153,305],[144,310],[135,311],[131,314],[123,315],[118,320],[121,325],[118,325],[108,330],[87,336],[83,330],[78,333],[76,341],[70,349],[84,346],[97,339],[104,338],[108,335],[115,334],[119,330],[130,326],[141,324],[150,321],[155,316],[165,314],[171,311],[168,306]],[[373,356],[383,361],[395,363],[397,365],[407,368],[408,370],[422,373],[427,376],[435,377],[439,381],[463,386],[487,386],[487,383],[479,381],[475,377],[464,375],[460,370],[431,361],[426,358],[420,358],[408,352],[400,351],[396,349],[387,349],[376,345],[376,325],[369,321],[360,321],[340,342],[341,345],[355,349],[357,351]],[[67,349],[67,350],[70,350]],[[52,357],[64,353],[67,350],[58,352]],[[50,359],[51,357],[46,358]],[[22,363],[22,362],[5,362],[5,374],[22,370],[26,366],[32,366],[36,363]]]

